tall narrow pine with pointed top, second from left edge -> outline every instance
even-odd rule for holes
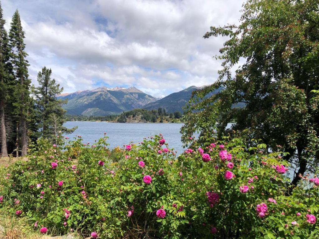
[[[13,106],[16,119],[17,135],[21,134],[21,151],[22,156],[27,154],[28,132],[27,119],[31,109],[32,99],[30,97],[30,79],[28,79],[28,61],[26,60],[24,31],[21,26],[21,20],[18,10],[12,17],[11,28],[9,32],[9,44],[11,47],[10,60],[13,67],[15,84],[13,88]],[[18,137],[17,137],[18,139]]]

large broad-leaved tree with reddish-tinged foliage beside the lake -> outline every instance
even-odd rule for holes
[[[227,36],[219,50],[218,80],[193,92],[182,127],[183,141],[236,134],[262,139],[289,152],[293,185],[319,160],[319,4],[314,0],[248,0],[240,25],[211,27],[204,38]],[[241,59],[244,63],[241,63]],[[235,71],[234,71],[235,69]],[[232,75],[235,72],[235,75]],[[204,98],[224,86],[225,90]],[[202,101],[200,101],[202,99]],[[315,103],[314,103],[315,102]],[[245,103],[245,107],[232,105]],[[226,126],[235,122],[230,129]]]

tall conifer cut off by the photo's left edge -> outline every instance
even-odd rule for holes
[[[9,39],[4,28],[5,20],[0,2],[0,128],[1,128],[1,155],[8,156],[5,107],[8,99],[10,82]]]

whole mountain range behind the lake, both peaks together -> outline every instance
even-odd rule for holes
[[[157,110],[159,107],[165,108],[168,113],[173,113],[183,112],[182,107],[188,102],[192,91],[200,88],[190,86],[161,99],[148,95],[135,87],[100,87],[94,90],[63,93],[57,98],[68,99],[68,103],[63,108],[71,115],[106,116],[137,108]]]

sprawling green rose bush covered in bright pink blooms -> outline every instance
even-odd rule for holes
[[[318,238],[318,178],[289,189],[284,153],[241,139],[194,141],[180,156],[161,135],[106,141],[41,139],[2,169],[1,210],[39,233],[93,238]]]

